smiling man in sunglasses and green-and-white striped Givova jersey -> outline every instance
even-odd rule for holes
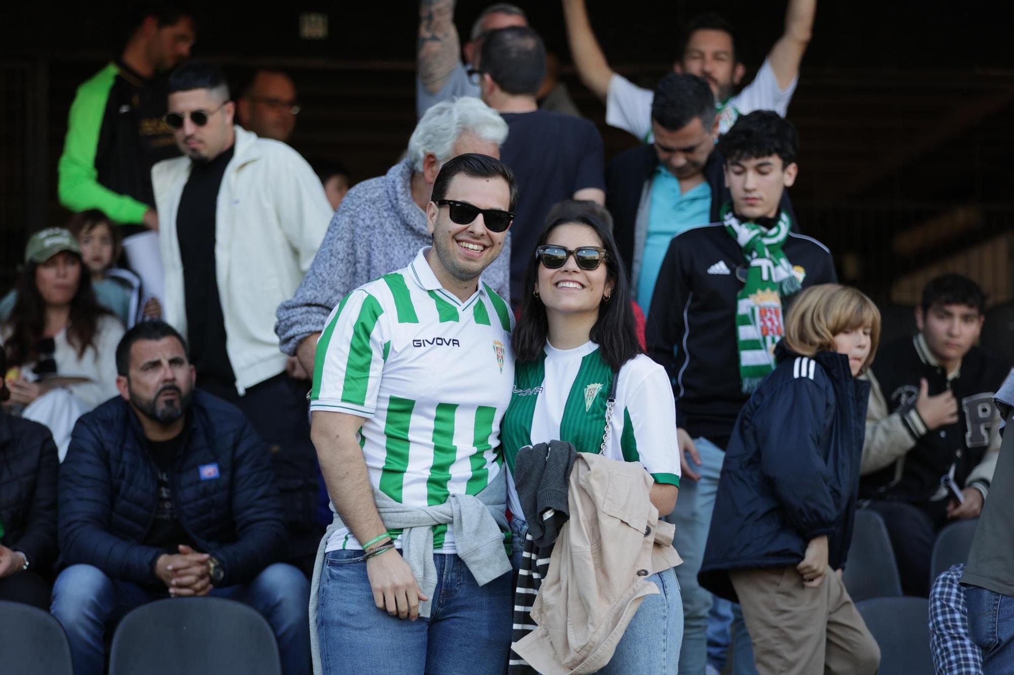
[[[517,189],[499,160],[464,154],[432,200],[433,245],[346,296],[317,346],[312,437],[336,511],[311,596],[320,672],[499,673],[507,661],[499,434],[513,317],[481,275]]]

